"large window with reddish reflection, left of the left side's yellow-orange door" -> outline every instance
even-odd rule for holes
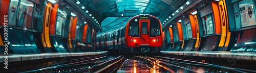
[[[18,26],[32,28],[32,15],[33,15],[34,3],[27,0],[20,2],[18,11]]]

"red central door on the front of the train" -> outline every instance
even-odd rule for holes
[[[140,45],[141,46],[149,46],[149,32],[148,26],[150,26],[150,19],[140,19],[139,20],[139,27],[140,27]]]

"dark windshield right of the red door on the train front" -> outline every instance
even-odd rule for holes
[[[159,35],[161,35],[160,34],[160,29],[159,29],[159,22],[151,22],[151,24],[150,24],[150,36],[151,37],[155,37],[155,36],[159,36]]]

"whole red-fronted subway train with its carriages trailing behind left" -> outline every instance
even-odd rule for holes
[[[159,53],[162,47],[162,26],[158,18],[140,14],[131,18],[126,26],[97,35],[99,50],[127,53]]]

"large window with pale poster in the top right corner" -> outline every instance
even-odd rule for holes
[[[253,26],[255,24],[255,5],[252,0],[246,0],[239,2],[240,17],[242,22],[242,28]]]

